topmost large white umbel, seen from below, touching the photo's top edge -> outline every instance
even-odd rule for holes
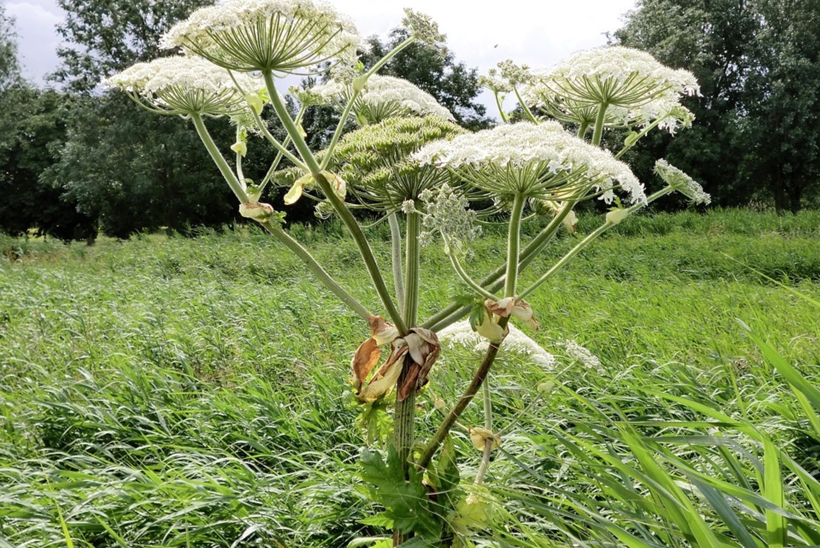
[[[353,22],[324,2],[228,0],[194,11],[161,45],[235,71],[305,74],[326,61],[353,64],[360,42]]]

